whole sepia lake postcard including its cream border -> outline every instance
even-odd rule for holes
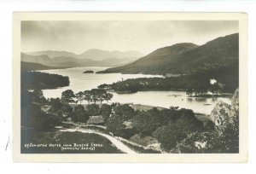
[[[247,15],[15,13],[15,160],[245,162]]]

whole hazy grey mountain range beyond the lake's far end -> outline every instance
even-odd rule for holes
[[[38,51],[21,53],[21,61],[39,63],[50,67],[118,67],[143,56],[137,51],[105,51],[90,49],[81,55],[67,51]]]

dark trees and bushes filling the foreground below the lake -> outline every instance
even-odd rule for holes
[[[238,116],[229,129],[219,131],[212,121],[204,126],[195,118],[195,113],[189,109],[179,109],[178,107],[157,109],[153,107],[143,111],[134,110],[127,104],[119,103],[111,105],[93,103],[86,107],[77,104],[72,107],[69,102],[73,95],[69,98],[67,93],[72,94],[73,91],[64,91],[61,99],[46,100],[41,90],[32,92],[24,90],[21,94],[22,129],[47,132],[55,129],[56,125],[63,125],[62,122],[73,121],[78,124],[86,124],[90,116],[101,115],[107,129],[106,132],[111,132],[113,136],[121,136],[128,140],[131,136],[152,137],[160,142],[160,148],[169,153],[236,153],[238,150],[238,145],[236,145],[238,142]],[[97,102],[101,102],[101,100]],[[63,136],[67,135],[63,134]],[[24,138],[26,136],[21,136],[21,140],[27,142]],[[68,137],[66,138],[68,139]],[[209,148],[207,150],[195,148],[193,142],[195,139],[207,141],[210,144]],[[68,139],[70,142],[73,140]],[[32,141],[37,142],[38,140],[33,139]],[[47,138],[45,141],[51,141],[51,139]],[[136,147],[131,148],[135,149]],[[55,151],[55,149],[53,150]],[[137,150],[154,153],[150,149],[142,151],[137,147]]]

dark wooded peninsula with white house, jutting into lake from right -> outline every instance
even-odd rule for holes
[[[234,93],[239,85],[239,68],[233,62],[226,67],[201,67],[187,75],[171,78],[132,78],[113,84],[101,84],[100,89],[111,89],[116,92],[137,92],[141,90],[183,90],[189,96],[206,96],[221,92]],[[210,79],[216,79],[211,84]]]

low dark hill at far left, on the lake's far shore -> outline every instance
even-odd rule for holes
[[[46,70],[46,69],[59,69],[59,68],[60,67],[49,67],[49,66],[44,66],[39,63],[24,62],[24,61],[21,61],[21,64],[20,64],[21,72],[35,71],[35,70]]]

